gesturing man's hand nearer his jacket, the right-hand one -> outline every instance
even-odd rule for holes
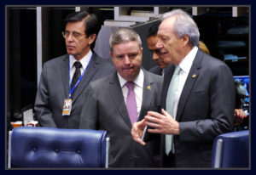
[[[146,125],[153,127],[148,128],[148,133],[167,133],[167,134],[179,134],[179,125],[172,116],[170,116],[166,110],[162,109],[162,115],[158,112],[148,111],[148,115],[145,116]]]

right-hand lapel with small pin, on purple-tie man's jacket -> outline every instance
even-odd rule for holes
[[[152,99],[154,98],[154,81],[148,75],[147,71],[143,71],[144,73],[144,83],[143,83],[143,102],[141,107],[141,112],[138,117],[138,121],[143,120],[144,116],[147,114]]]

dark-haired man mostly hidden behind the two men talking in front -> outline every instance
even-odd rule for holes
[[[163,76],[165,74],[166,66],[168,65],[167,63],[164,62],[164,55],[167,54],[168,52],[164,48],[157,48],[156,43],[158,42],[158,37],[157,37],[157,31],[159,28],[160,23],[157,23],[155,25],[152,25],[148,29],[148,35],[147,35],[147,43],[148,43],[148,49],[152,53],[152,59],[156,63],[154,67],[149,69],[148,71]]]

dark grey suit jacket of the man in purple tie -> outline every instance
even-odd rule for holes
[[[143,72],[143,104],[138,121],[148,110],[160,110],[162,77]],[[131,121],[116,72],[91,82],[84,101],[79,128],[108,132],[109,167],[155,167],[160,143],[154,140],[143,146],[132,139]]]

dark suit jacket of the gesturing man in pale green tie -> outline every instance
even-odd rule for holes
[[[164,77],[161,104],[165,107],[174,69],[175,65],[168,65]],[[234,107],[235,87],[229,67],[199,49],[177,105],[177,167],[211,167],[213,139],[232,131]],[[161,153],[165,154],[164,135],[161,140]]]

